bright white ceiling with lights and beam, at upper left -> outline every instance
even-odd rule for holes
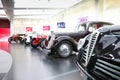
[[[0,18],[48,18],[82,0],[0,0]]]

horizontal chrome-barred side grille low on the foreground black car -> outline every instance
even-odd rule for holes
[[[93,69],[94,74],[104,80],[120,80],[120,61],[99,58]]]

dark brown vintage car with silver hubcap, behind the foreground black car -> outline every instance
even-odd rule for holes
[[[60,57],[68,57],[72,51],[77,51],[77,43],[80,38],[84,38],[97,28],[104,25],[112,25],[109,22],[89,21],[79,24],[75,28],[75,32],[69,33],[51,33],[51,36],[44,41],[46,49],[50,50],[50,54],[57,54]],[[47,45],[46,45],[47,44]]]

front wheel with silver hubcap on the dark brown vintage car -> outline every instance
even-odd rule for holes
[[[73,51],[73,46],[68,41],[60,42],[56,49],[57,54],[62,58],[69,57],[72,54],[72,51]]]

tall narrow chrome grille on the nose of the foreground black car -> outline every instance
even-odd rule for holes
[[[96,44],[98,35],[99,35],[99,32],[92,33],[88,45],[83,50],[82,65],[85,67],[88,64],[90,57],[93,55],[92,52],[93,52],[94,46]]]

